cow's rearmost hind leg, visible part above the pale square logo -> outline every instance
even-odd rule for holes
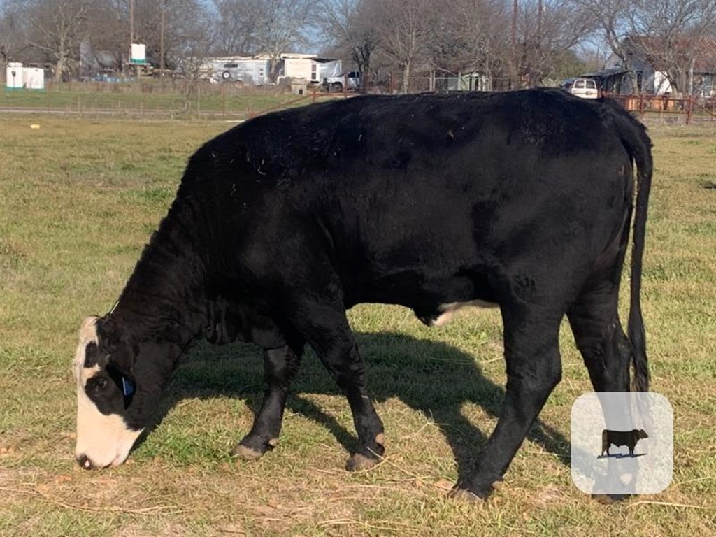
[[[567,316],[594,390],[628,392],[632,353],[617,314],[619,287],[610,280],[582,291]]]

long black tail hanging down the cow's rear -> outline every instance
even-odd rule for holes
[[[634,364],[632,389],[637,392],[646,392],[649,390],[649,366],[644,319],[642,319],[641,294],[647,208],[649,190],[652,185],[652,142],[649,140],[646,127],[621,107],[616,113],[616,130],[619,132],[622,144],[637,164],[637,205],[636,211],[634,211],[634,246],[632,248],[632,281],[627,334],[632,346],[632,363]]]

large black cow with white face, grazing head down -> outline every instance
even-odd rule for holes
[[[629,338],[617,295],[634,217]],[[561,378],[569,317],[598,391],[646,390],[639,306],[652,175],[644,127],[560,90],[357,97],[258,117],[193,155],[115,308],[86,319],[75,358],[77,460],[122,463],[200,334],[264,349],[268,390],[233,454],[276,444],[309,344],[342,388],[359,448],[382,422],[345,310],[402,304],[440,325],[500,308],[507,387],[497,427],[455,493],[485,497]]]

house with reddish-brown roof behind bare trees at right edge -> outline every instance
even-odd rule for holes
[[[608,78],[615,93],[666,95],[679,89],[700,97],[716,95],[716,39],[682,39],[667,49],[661,39],[636,36],[627,37],[621,46],[627,61],[611,54],[605,65],[607,72],[613,72]]]

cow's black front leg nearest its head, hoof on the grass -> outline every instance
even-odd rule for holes
[[[296,376],[301,364],[303,344],[286,345],[279,349],[263,351],[263,374],[266,379],[266,392],[261,410],[253,420],[253,427],[243,440],[231,451],[238,458],[253,460],[274,448],[279,441],[281,420],[284,417],[286,397],[289,394],[291,380]]]

